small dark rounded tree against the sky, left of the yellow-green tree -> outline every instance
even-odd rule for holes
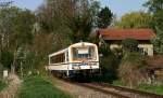
[[[113,13],[109,8],[103,8],[98,14],[98,27],[106,28],[112,22]]]

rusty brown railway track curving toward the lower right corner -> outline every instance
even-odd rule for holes
[[[74,85],[82,87],[87,87],[96,92],[103,93],[105,95],[111,95],[113,98],[163,98],[162,95],[156,95],[152,93],[136,90],[131,88],[114,86],[106,83],[78,83],[71,80],[62,80]]]

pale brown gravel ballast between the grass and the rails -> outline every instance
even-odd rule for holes
[[[57,80],[55,82],[55,86],[59,89],[70,93],[74,98],[116,98],[114,96],[106,95],[68,82],[60,80]]]

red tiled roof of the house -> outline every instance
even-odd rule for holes
[[[99,34],[104,40],[124,40],[126,38],[151,40],[155,37],[155,33],[151,29],[100,29]]]

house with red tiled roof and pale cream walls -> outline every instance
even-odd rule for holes
[[[155,37],[155,33],[151,29],[100,29],[98,37],[110,44],[111,50],[122,47],[122,40],[135,39],[142,54],[153,56],[151,39]]]

